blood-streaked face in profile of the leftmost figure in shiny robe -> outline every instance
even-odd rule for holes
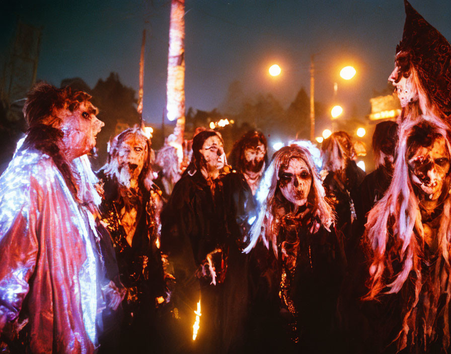
[[[96,136],[105,125],[96,114],[97,109],[88,101],[80,103],[73,112],[63,109],[57,113],[62,121],[64,147],[71,158],[80,157],[96,146]]]

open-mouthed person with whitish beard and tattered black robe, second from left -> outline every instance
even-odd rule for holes
[[[159,246],[161,198],[153,185],[150,143],[137,127],[111,142],[108,161],[98,172],[103,183],[102,221],[114,242],[125,287],[119,352],[160,350],[156,305],[165,282]]]

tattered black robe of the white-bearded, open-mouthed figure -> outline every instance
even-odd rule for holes
[[[110,179],[102,172],[104,198],[100,207],[102,221],[110,231],[119,267],[119,276],[126,289],[122,301],[124,319],[121,326],[120,345],[111,350],[132,350],[145,352],[157,350],[159,338],[156,298],[165,296],[165,281],[160,249],[156,245],[157,224],[155,206],[149,192],[141,186],[137,191],[122,189],[115,178]],[[125,205],[125,198],[137,210],[136,229],[131,246],[119,220],[119,213]]]

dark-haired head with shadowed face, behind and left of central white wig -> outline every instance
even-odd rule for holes
[[[243,173],[255,195],[268,163],[266,138],[258,130],[250,130],[237,140],[230,152],[229,162]]]

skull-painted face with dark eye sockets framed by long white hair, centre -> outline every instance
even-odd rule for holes
[[[279,170],[279,188],[288,202],[306,204],[312,186],[312,173],[307,163],[298,157],[289,160],[287,168]]]

